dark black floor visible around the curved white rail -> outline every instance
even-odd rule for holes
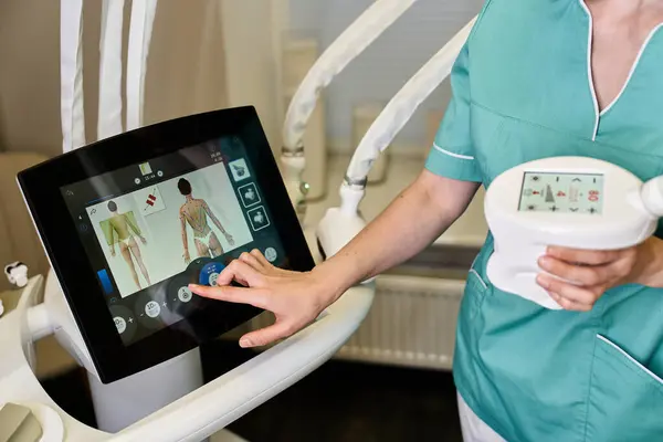
[[[206,346],[206,380],[251,355],[222,341]],[[65,411],[94,425],[84,379],[72,371],[43,383]],[[341,361],[327,362],[229,430],[250,442],[462,440],[450,373]]]

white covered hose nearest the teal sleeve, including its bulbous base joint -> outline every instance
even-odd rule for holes
[[[323,256],[330,257],[338,253],[366,227],[358,209],[372,164],[410,120],[419,105],[450,75],[475,21],[476,18],[472,19],[399,91],[368,129],[355,150],[340,187],[340,208],[327,210],[318,224],[316,235]]]

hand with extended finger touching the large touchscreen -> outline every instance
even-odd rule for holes
[[[244,287],[230,286],[233,281]],[[219,275],[217,286],[190,285],[189,290],[212,299],[251,304],[276,316],[270,327],[242,336],[242,347],[261,347],[295,334],[313,323],[335,294],[315,271],[275,267],[257,250],[231,262]]]

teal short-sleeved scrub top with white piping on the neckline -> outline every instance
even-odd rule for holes
[[[601,115],[590,35],[581,0],[488,0],[427,168],[486,188],[555,156],[663,175],[663,31]],[[624,285],[590,313],[549,311],[491,284],[492,252],[488,234],[459,317],[454,379],[472,410],[509,442],[662,441],[663,290]]]

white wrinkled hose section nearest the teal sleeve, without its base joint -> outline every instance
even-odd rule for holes
[[[346,173],[346,185],[365,187],[376,159],[412,118],[417,108],[451,74],[476,18],[472,19],[389,102],[357,147]]]

